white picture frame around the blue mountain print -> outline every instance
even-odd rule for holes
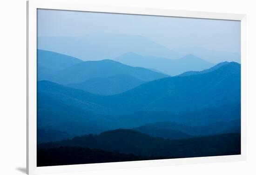
[[[37,9],[58,9],[86,12],[111,12],[140,15],[222,19],[241,21],[241,155],[194,157],[134,162],[109,162],[65,166],[36,166],[37,147]],[[27,174],[78,172],[102,169],[168,166],[177,164],[241,161],[246,159],[246,15],[151,9],[125,6],[88,5],[79,0],[27,1]]]

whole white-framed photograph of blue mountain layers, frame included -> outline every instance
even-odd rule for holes
[[[246,16],[27,1],[27,173],[245,160]]]

